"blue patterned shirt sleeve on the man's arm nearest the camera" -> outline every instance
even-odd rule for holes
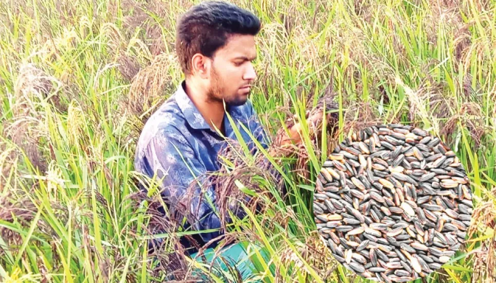
[[[207,179],[204,175],[207,170],[195,156],[185,136],[173,131],[162,131],[151,139],[145,150],[145,158],[151,172],[156,172],[157,178],[162,179],[162,195],[168,197],[171,203],[184,199],[190,193],[188,187],[194,182],[189,207],[189,213],[195,219],[190,223],[194,230],[221,227],[219,217],[215,213],[217,207],[214,187],[210,185],[204,187],[204,190],[200,187],[200,184],[203,186]],[[199,234],[205,242],[219,235],[219,231]]]

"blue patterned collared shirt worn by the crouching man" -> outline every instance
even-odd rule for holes
[[[158,180],[163,178],[161,188],[165,190],[162,196],[172,203],[186,194],[191,182],[196,183],[196,180],[200,179],[195,177],[221,168],[217,155],[219,150],[227,145],[226,140],[210,128],[187,96],[184,90],[185,84],[186,82],[182,81],[174,95],[146,121],[137,143],[134,162],[136,171],[150,178],[153,178],[155,173]],[[266,133],[249,100],[244,105],[231,106],[227,112],[253,153],[256,151],[256,146],[240,124],[245,125],[264,148],[268,147]],[[227,115],[224,115],[224,128],[227,138],[237,140]],[[195,189],[190,209],[199,221],[193,223],[192,228],[196,231],[220,228],[221,221],[214,213],[211,204],[205,197],[199,198],[198,185]],[[215,188],[210,186],[206,188],[205,193],[212,203],[215,203],[214,190]],[[200,233],[200,239],[196,239],[203,245],[219,235],[218,231]],[[186,246],[188,246],[187,242]]]

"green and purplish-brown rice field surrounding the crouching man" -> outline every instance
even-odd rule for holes
[[[175,22],[198,1],[5,0],[0,5],[0,281],[241,282],[185,257],[159,188],[134,171],[152,112],[182,81]],[[402,123],[442,139],[473,194],[467,242],[416,282],[496,281],[496,1],[236,0],[262,21],[251,101],[273,141],[305,124],[320,98],[338,105],[336,131],[313,133],[290,158],[267,156],[288,197],[244,145],[225,162],[223,201],[263,207],[226,227],[256,244],[250,281],[365,282],[319,239],[311,209],[327,154],[352,130]],[[235,157],[234,159],[232,157]],[[227,159],[226,159],[227,160]],[[138,185],[148,183],[148,194]],[[224,202],[225,204],[226,202]],[[163,247],[149,253],[150,227]],[[251,251],[251,250],[250,250]],[[157,264],[160,262],[160,264]],[[248,282],[245,280],[244,282]]]

